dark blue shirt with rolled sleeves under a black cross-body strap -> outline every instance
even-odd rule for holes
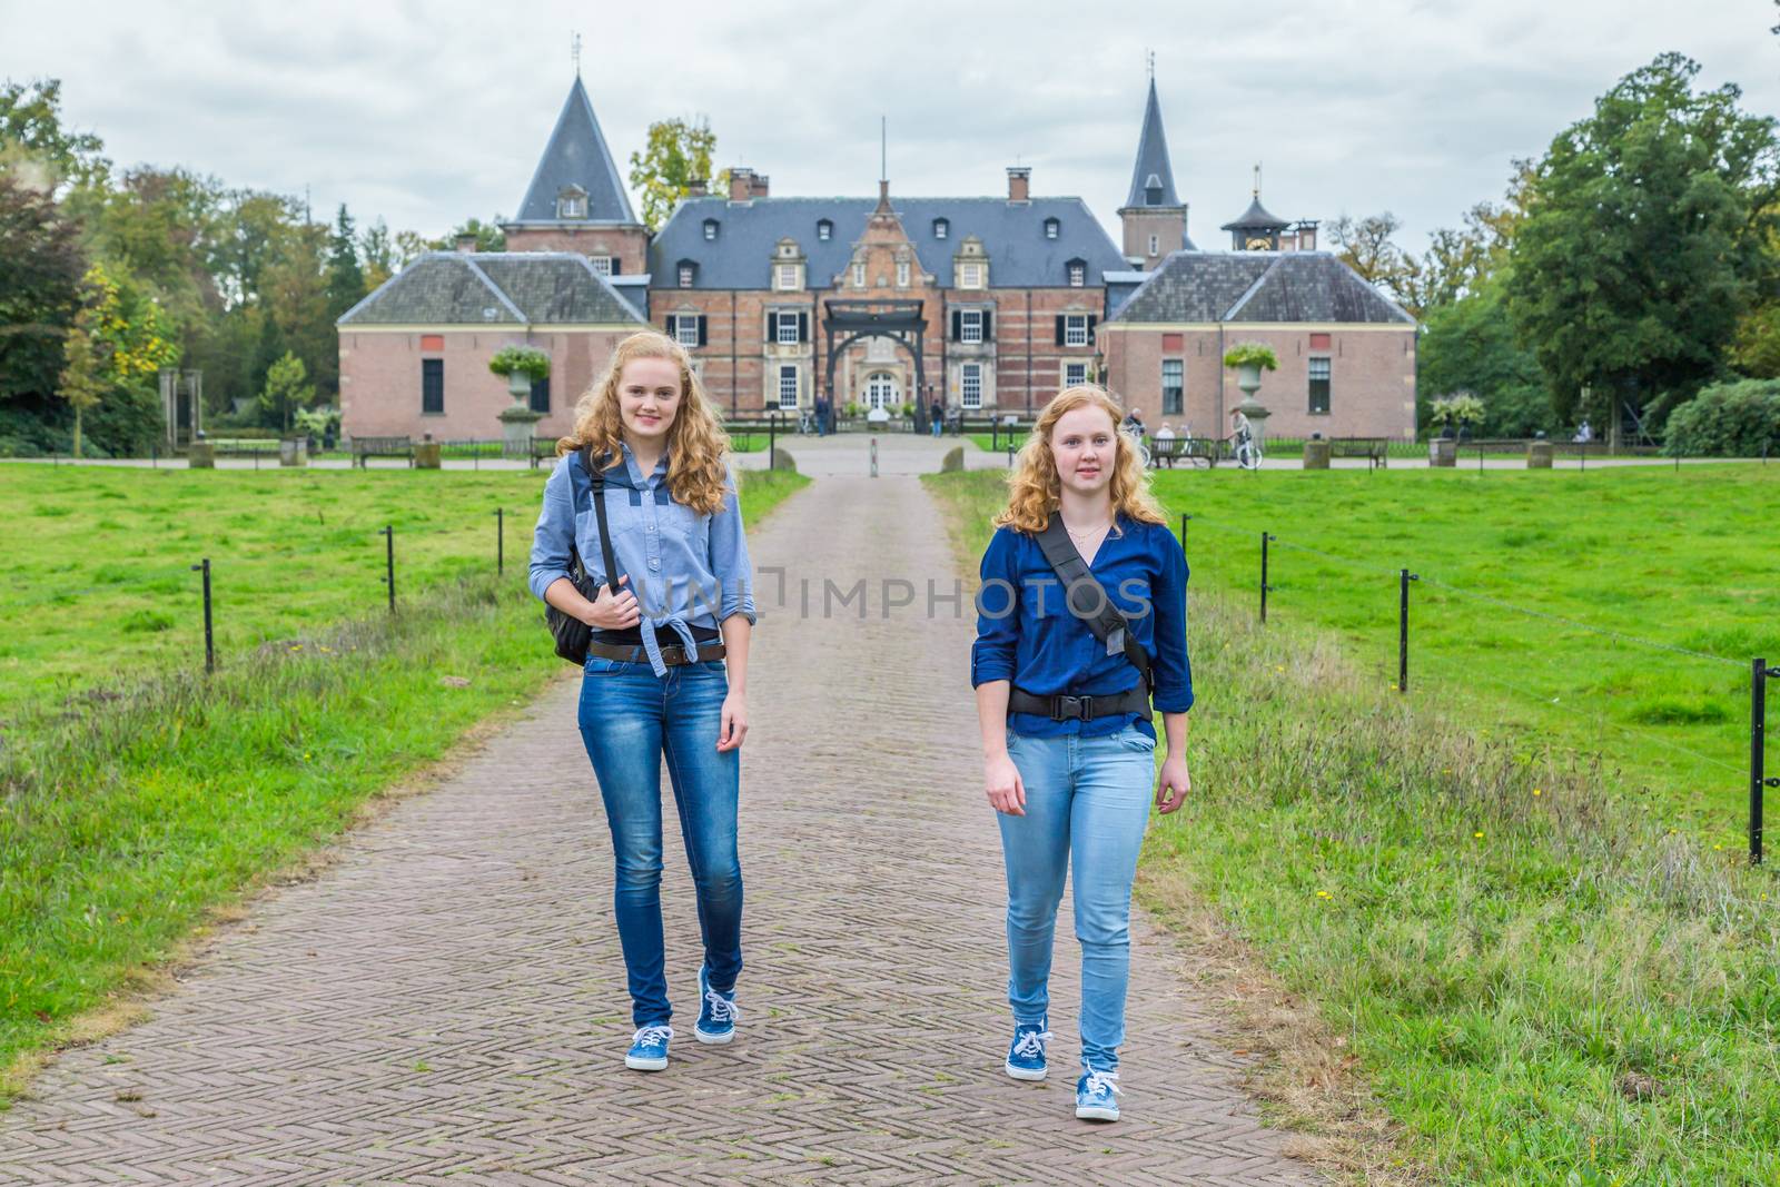
[[[1109,696],[1137,687],[1143,676],[1125,651],[1107,655],[1088,623],[1063,603],[1063,582],[1045,561],[1038,539],[1011,527],[995,530],[983,553],[977,594],[977,641],[970,650],[970,683],[1011,680],[1036,696]],[[1130,619],[1130,634],[1150,653],[1153,705],[1162,714],[1193,708],[1193,667],[1187,662],[1187,559],[1159,523],[1116,518],[1089,573]],[[1052,721],[1011,714],[1015,733],[1100,737],[1127,724],[1155,737],[1148,715],[1116,714],[1093,721]]]

